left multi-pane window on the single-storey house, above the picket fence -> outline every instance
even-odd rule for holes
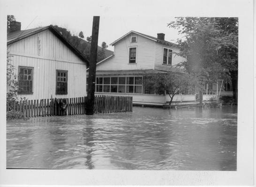
[[[33,67],[19,66],[18,94],[33,94]]]

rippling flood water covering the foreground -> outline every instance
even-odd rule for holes
[[[7,168],[236,170],[237,108],[7,122]]]

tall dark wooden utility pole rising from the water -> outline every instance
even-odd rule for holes
[[[93,110],[94,110],[95,77],[96,77],[97,50],[98,50],[98,29],[99,29],[99,16],[93,16],[91,43],[90,43],[90,63],[89,63],[86,115],[93,115],[94,113]]]

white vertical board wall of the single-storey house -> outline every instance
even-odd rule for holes
[[[41,53],[38,56],[38,37]],[[8,46],[11,63],[34,68],[33,94],[18,94],[18,99],[49,99],[86,95],[86,64],[68,49],[50,30],[27,37]],[[68,94],[56,95],[56,70],[68,71]]]

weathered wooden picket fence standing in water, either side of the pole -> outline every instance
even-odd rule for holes
[[[87,97],[12,101],[7,103],[7,111],[19,111],[25,117],[83,115],[86,113],[86,101]],[[94,112],[132,112],[132,97],[95,96]]]

